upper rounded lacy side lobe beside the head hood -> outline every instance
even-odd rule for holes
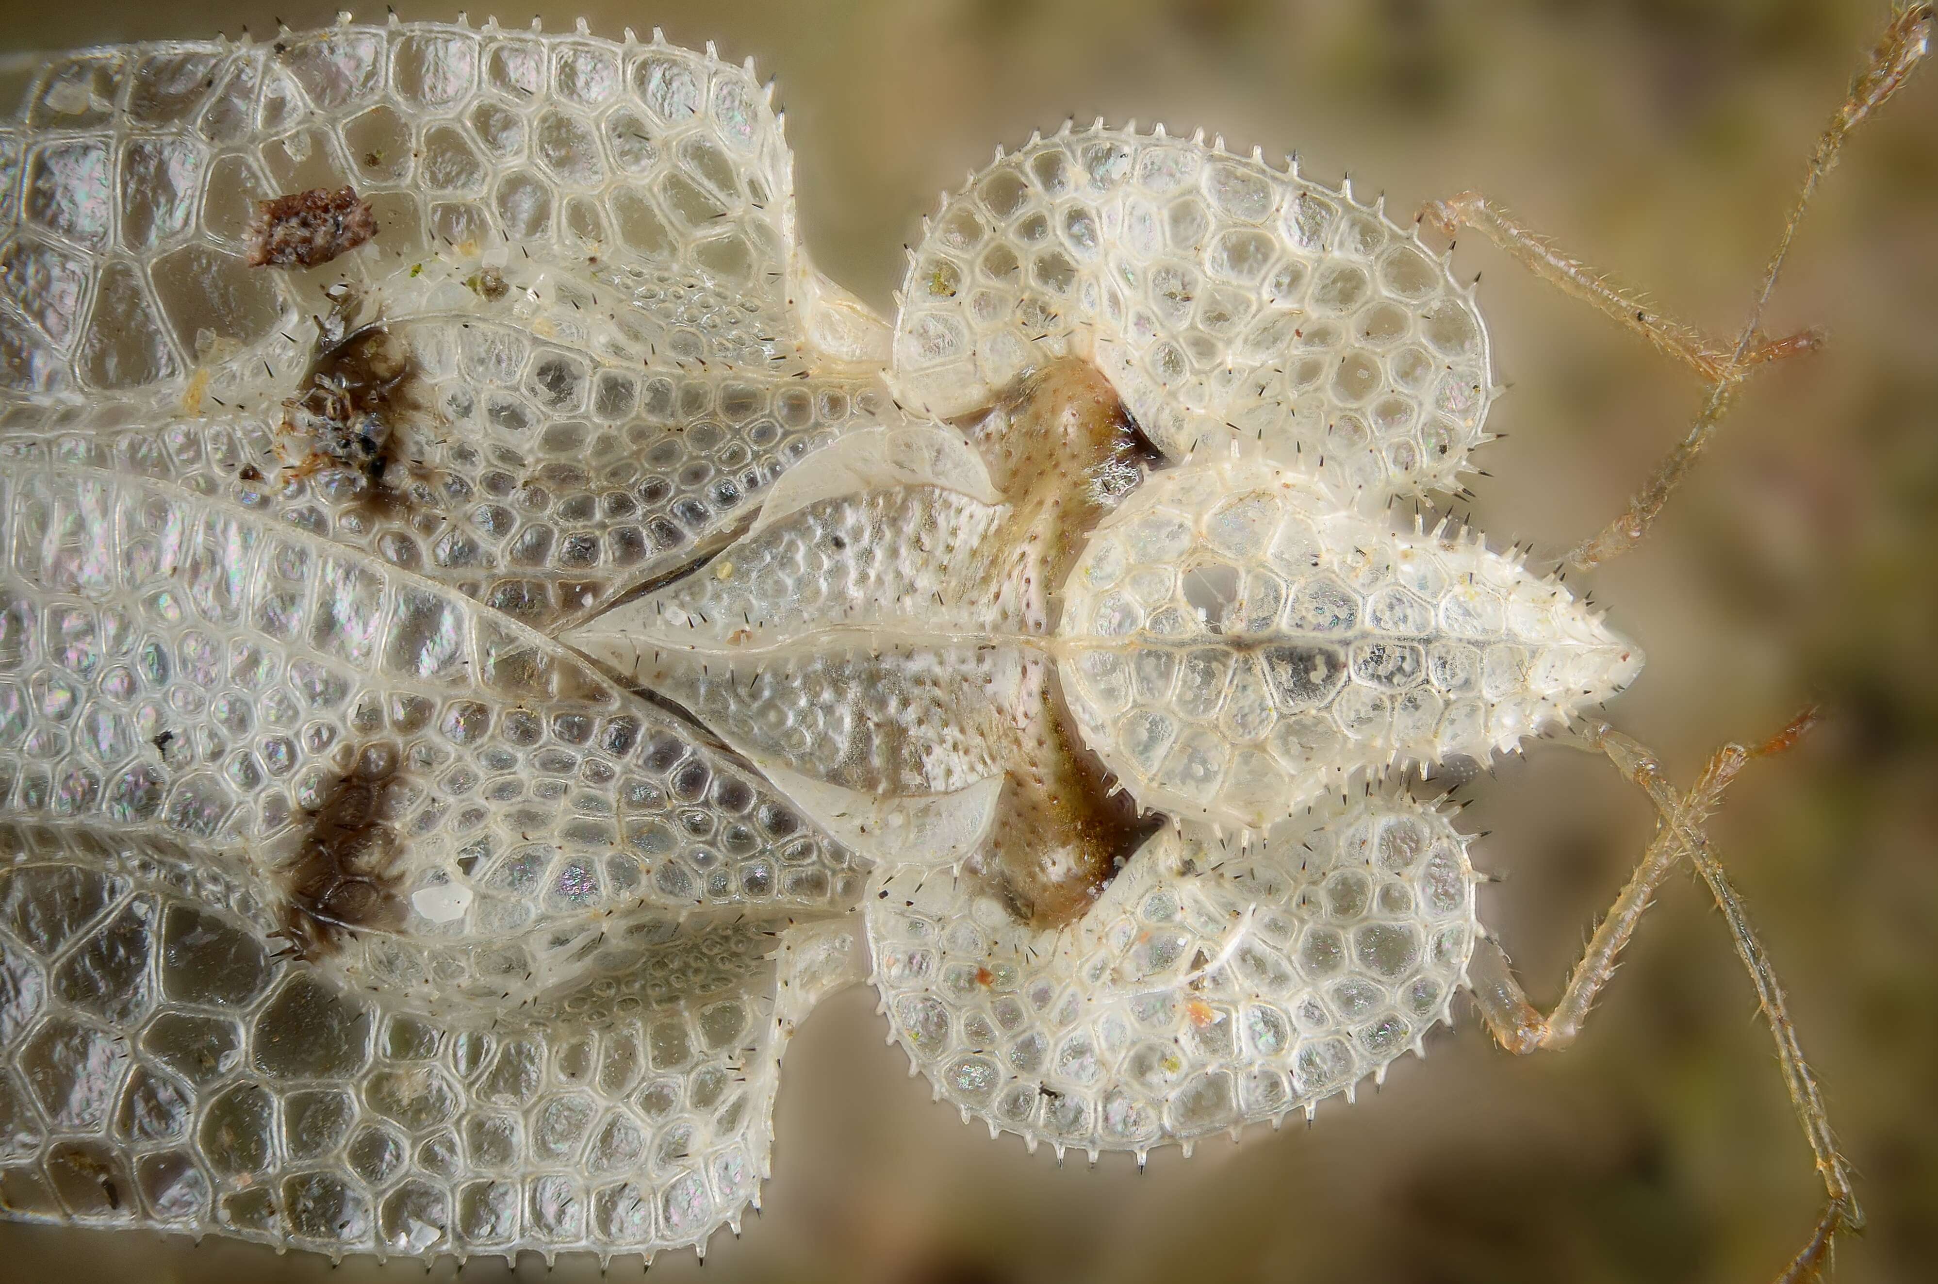
[[[1161,128],[998,153],[911,258],[893,351],[911,409],[986,407],[1066,353],[1174,458],[1324,456],[1374,504],[1457,487],[1492,398],[1471,289],[1382,202]]]

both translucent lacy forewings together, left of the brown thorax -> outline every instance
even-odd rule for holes
[[[657,39],[399,23],[25,80],[6,1206],[703,1249],[767,1172],[787,1034],[853,979],[864,869],[545,634],[886,405],[767,91]]]

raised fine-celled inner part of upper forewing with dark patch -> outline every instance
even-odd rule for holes
[[[395,372],[384,440],[360,460],[322,454],[347,417],[316,378],[297,405],[264,394],[163,429],[14,431],[0,458],[223,497],[556,630],[715,545],[795,460],[886,401],[849,378],[641,369],[483,318],[407,320],[359,343],[333,367],[364,386],[372,361]]]

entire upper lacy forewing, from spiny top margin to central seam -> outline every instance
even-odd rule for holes
[[[370,242],[246,264],[256,200],[343,184]],[[339,25],[50,60],[0,124],[0,318],[10,436],[136,456],[180,419],[186,485],[543,628],[694,557],[886,400],[886,326],[795,244],[767,89],[657,37]],[[374,332],[407,370],[382,487],[285,431]]]

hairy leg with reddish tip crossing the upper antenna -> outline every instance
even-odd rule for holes
[[[1481,192],[1461,192],[1448,200],[1428,202],[1421,209],[1421,217],[1448,237],[1459,233],[1461,227],[1475,229],[1543,281],[1591,303],[1616,324],[1653,343],[1663,355],[1688,365],[1705,384],[1723,378],[1725,370],[1731,369],[1733,345],[1717,343],[1694,326],[1655,310],[1645,295],[1616,285],[1579,258],[1554,248],[1552,241]],[[1822,341],[1824,336],[1816,330],[1804,330],[1787,339],[1767,339],[1742,355],[1742,367],[1816,351]]]

